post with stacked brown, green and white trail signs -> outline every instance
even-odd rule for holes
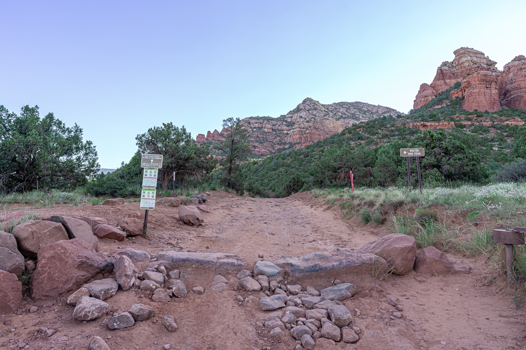
[[[148,210],[155,209],[155,195],[157,187],[157,175],[159,169],[163,168],[162,155],[143,155],[140,160],[143,169],[143,190],[140,196],[140,209],[144,209],[143,237],[146,237],[148,228]]]

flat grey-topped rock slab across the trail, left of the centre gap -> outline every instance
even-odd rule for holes
[[[181,269],[207,269],[217,272],[224,272],[228,269],[244,269],[245,263],[241,257],[236,254],[227,253],[193,253],[193,252],[175,252],[168,251],[155,255],[156,262],[150,264],[150,267],[163,265],[166,270]]]

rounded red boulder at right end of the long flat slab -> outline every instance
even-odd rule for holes
[[[392,233],[363,245],[358,253],[378,255],[387,261],[394,274],[404,275],[413,270],[417,243],[413,236]]]

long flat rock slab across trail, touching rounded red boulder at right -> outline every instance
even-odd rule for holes
[[[337,249],[336,254],[310,253],[299,258],[284,255],[276,261],[292,276],[337,270],[341,274],[347,273],[385,273],[389,270],[387,262],[375,254],[358,254],[348,249]]]

